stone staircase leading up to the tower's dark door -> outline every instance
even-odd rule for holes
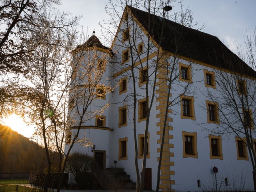
[[[136,184],[130,180],[123,168],[107,168],[102,171],[108,179],[108,189],[134,189]]]

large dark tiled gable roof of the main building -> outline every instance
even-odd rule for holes
[[[230,51],[216,36],[182,26],[131,6],[128,8],[164,50],[256,77],[256,71]],[[148,23],[150,23],[150,27],[148,27]]]

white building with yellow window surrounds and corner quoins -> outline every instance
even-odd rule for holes
[[[216,73],[226,71],[228,76],[231,70],[239,73],[242,71],[240,69],[247,69],[247,76],[250,79],[255,77],[255,71],[215,36],[186,28],[152,14],[148,15],[129,6],[126,7],[126,11],[128,14],[122,17],[111,47],[112,51],[102,46],[96,36],[90,37],[88,42],[81,46],[86,50],[102,53],[100,58],[104,57],[108,60],[102,82],[107,81],[115,89],[106,95],[103,93],[93,101],[91,111],[98,110],[100,106],[107,103],[110,103],[110,106],[100,115],[100,119],[92,118],[86,121],[80,131],[80,138],[86,134],[87,139],[92,140],[95,149],[92,150],[91,146],[75,144],[72,151],[92,155],[103,170],[114,167],[113,161],[116,160],[118,162],[116,167],[124,168],[124,171],[130,175],[130,179],[133,182],[136,181],[133,100],[130,98],[133,93],[133,82],[129,67],[132,63],[136,67],[134,69],[138,94],[136,137],[138,164],[141,170],[146,125],[145,79],[142,71],[146,70],[145,72],[149,75],[152,74],[149,81],[154,81],[152,66],[153,61],[158,59],[157,51],[160,50],[165,55],[162,58],[163,61],[176,65],[173,74],[174,76],[178,74],[179,77],[172,83],[171,101],[173,98],[179,100],[176,100],[178,101],[176,105],[170,107],[167,119],[160,190],[198,191],[205,190],[204,186],[207,184],[209,186],[206,188],[213,186],[215,190],[215,177],[212,171],[214,166],[218,168],[216,174],[218,188],[232,190],[235,183],[237,185],[243,183],[244,190],[253,190],[252,165],[244,143],[241,143],[234,134],[230,134],[230,137],[218,134],[213,136],[203,128],[215,129],[220,125],[219,104],[210,100],[205,94],[209,90],[214,92],[219,89],[218,83],[215,82]],[[148,27],[148,19],[152,25],[150,27]],[[131,21],[134,23],[132,24]],[[163,30],[162,38],[161,30]],[[177,34],[178,37],[175,36]],[[133,35],[135,38],[132,38]],[[150,43],[148,43],[148,37]],[[148,46],[150,49],[147,49]],[[137,57],[134,57],[136,53]],[[146,59],[147,55],[148,59]],[[174,58],[178,60],[174,62]],[[240,64],[238,67],[231,67],[228,64],[230,60]],[[145,68],[146,61],[150,61],[148,70]],[[166,93],[168,83],[163,79],[168,76],[168,73],[170,71],[166,73],[166,70],[161,67],[156,73],[156,95],[150,112],[145,188],[152,190],[156,189],[158,157],[164,125],[162,114],[165,111],[168,95]],[[186,92],[184,87],[188,87]],[[149,88],[151,89],[152,87]],[[149,93],[150,100],[152,92],[149,91]],[[216,94],[218,94],[217,91]],[[254,115],[250,114],[250,116]],[[74,125],[71,131],[76,132],[76,126]],[[73,182],[72,177],[70,182]]]

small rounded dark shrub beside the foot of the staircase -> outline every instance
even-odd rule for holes
[[[79,172],[75,176],[75,181],[80,189],[92,189],[94,175],[90,172]]]

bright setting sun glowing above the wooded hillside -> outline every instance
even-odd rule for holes
[[[13,131],[17,131],[25,137],[30,138],[34,133],[34,128],[26,125],[23,119],[16,114],[10,115],[7,119],[4,119],[3,122],[5,125],[11,127]]]

